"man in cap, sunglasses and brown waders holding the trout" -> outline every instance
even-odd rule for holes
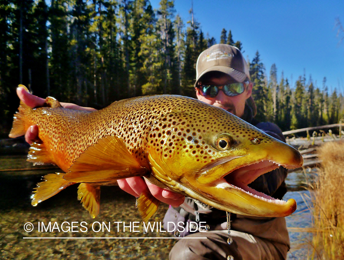
[[[272,123],[258,123],[254,120],[256,107],[252,94],[249,71],[240,51],[227,44],[216,44],[200,54],[196,65],[196,96],[208,104],[223,108],[254,124],[271,136],[284,141],[281,130]],[[22,88],[17,89],[22,101],[31,107],[43,106],[44,99],[30,95]],[[62,103],[74,109],[87,109],[74,104]],[[38,129],[31,126],[25,139],[31,143],[37,138]],[[251,187],[275,198],[281,199],[286,192],[284,179],[286,169],[260,176]],[[164,221],[206,221],[208,232],[177,234],[194,239],[179,240],[170,252],[170,259],[285,259],[289,250],[289,237],[284,218],[259,218],[233,215],[232,231],[227,232],[225,212],[204,205],[193,199],[159,188],[141,177],[118,181],[126,192],[138,197],[144,189],[160,201],[172,207],[166,212]],[[183,203],[183,204],[182,204]],[[182,204],[182,205],[181,205]],[[181,205],[180,207],[178,207]],[[197,238],[200,237],[200,238]],[[202,239],[207,237],[208,239]],[[233,242],[228,243],[228,238]]]

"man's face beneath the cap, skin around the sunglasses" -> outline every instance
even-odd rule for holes
[[[219,87],[219,91],[215,97],[205,97],[201,95],[200,88],[196,87],[196,96],[199,100],[207,104],[223,108],[237,117],[242,117],[244,115],[245,101],[252,94],[252,83],[249,83],[248,85],[245,84],[245,90],[243,93],[236,96],[227,96],[221,89],[224,85],[230,83],[236,83],[236,81],[228,75],[204,78],[200,82],[201,85],[215,85]]]

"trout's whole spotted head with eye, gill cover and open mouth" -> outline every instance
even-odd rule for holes
[[[228,212],[281,217],[296,202],[248,187],[280,166],[303,164],[301,154],[224,109],[188,100],[157,118],[147,143],[155,178],[172,191]]]

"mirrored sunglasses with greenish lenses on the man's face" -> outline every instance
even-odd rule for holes
[[[200,90],[200,94],[204,97],[216,97],[219,90],[222,90],[225,95],[233,97],[243,93],[245,91],[245,85],[248,85],[248,82],[226,84],[222,86],[222,89],[219,88],[221,86],[216,85],[201,85],[198,86],[198,89]]]

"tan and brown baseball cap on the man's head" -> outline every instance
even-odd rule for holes
[[[237,82],[250,78],[246,61],[240,50],[228,44],[215,44],[198,56],[195,85],[205,73],[210,71],[226,73]]]

